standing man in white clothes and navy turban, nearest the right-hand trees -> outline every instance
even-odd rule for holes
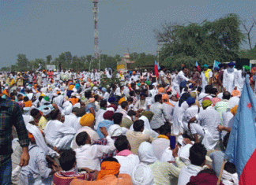
[[[236,69],[234,68],[235,63],[230,62],[228,64],[227,70],[224,71],[223,73],[223,87],[224,91],[228,91],[232,93],[235,87],[235,72]]]

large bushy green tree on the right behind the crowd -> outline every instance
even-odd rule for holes
[[[201,24],[164,24],[160,31],[155,30],[156,39],[164,43],[160,64],[177,70],[182,64],[192,67],[196,61],[199,65],[233,61],[244,39],[240,24],[235,14]]]

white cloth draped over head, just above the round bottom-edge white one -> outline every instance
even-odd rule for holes
[[[152,149],[152,144],[149,142],[141,142],[137,154],[140,161],[146,165],[150,165],[157,161],[154,150]]]

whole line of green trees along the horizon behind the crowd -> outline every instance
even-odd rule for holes
[[[159,61],[160,65],[171,70],[179,70],[182,64],[191,68],[196,61],[199,65],[213,65],[214,60],[228,62],[235,61],[238,57],[256,59],[256,48],[251,46],[250,33],[244,33],[240,29],[243,22],[236,14],[228,14],[213,21],[204,20],[201,23],[165,22],[161,24],[160,29],[154,30],[156,40],[161,46],[159,53],[157,55],[131,53],[130,60],[135,62],[129,67],[143,68],[145,65],[153,65],[154,61]],[[246,28],[245,30],[247,31]],[[241,47],[243,43],[247,44],[247,40],[250,50]],[[46,68],[46,65],[56,65],[58,68],[58,65],[62,64],[62,68],[73,68],[76,72],[92,68],[104,70],[109,67],[115,70],[117,61],[121,59],[122,56],[119,54],[115,56],[101,54],[100,59],[96,59],[92,55],[79,57],[67,51],[59,54],[55,59],[47,55],[45,59],[35,58],[29,61],[25,54],[17,54],[16,65],[4,67],[1,71],[33,70],[38,68],[39,64],[42,68]]]

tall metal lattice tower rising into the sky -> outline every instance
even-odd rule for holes
[[[100,48],[99,48],[99,31],[98,31],[98,0],[93,0],[94,7],[92,9],[93,20],[94,20],[94,57],[99,58]]]

